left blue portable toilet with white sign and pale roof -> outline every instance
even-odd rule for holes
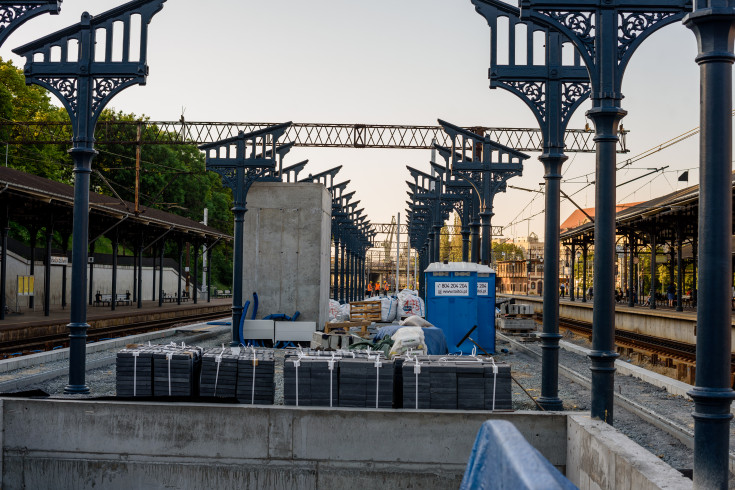
[[[469,354],[474,347],[469,340],[457,344],[478,324],[477,267],[470,262],[434,262],[424,271],[426,319],[442,329],[450,353]]]

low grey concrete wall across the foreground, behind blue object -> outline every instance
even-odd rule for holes
[[[562,471],[566,415],[0,400],[2,488],[458,488],[482,423]]]

